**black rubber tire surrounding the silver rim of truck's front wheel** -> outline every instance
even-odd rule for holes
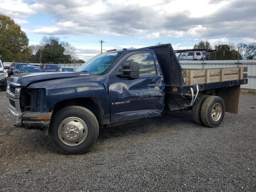
[[[65,144],[63,142],[65,138],[62,137],[62,140],[61,140],[60,139],[61,136],[59,137],[59,134],[58,134],[59,126],[64,122],[64,120],[72,117],[82,120],[87,126],[87,129],[86,129],[87,136],[85,140],[81,141],[81,143],[76,146],[69,146],[68,144]],[[64,127],[64,125],[65,124],[63,124],[62,128]],[[66,127],[68,126],[65,126],[65,129]],[[50,123],[48,136],[50,138],[50,141],[54,145],[54,147],[59,152],[63,154],[83,154],[87,152],[92,147],[92,145],[96,142],[98,138],[98,133],[99,133],[99,125],[98,125],[97,118],[94,116],[94,114],[90,110],[81,106],[69,106],[61,109],[54,115]],[[83,135],[81,133],[79,134]]]

